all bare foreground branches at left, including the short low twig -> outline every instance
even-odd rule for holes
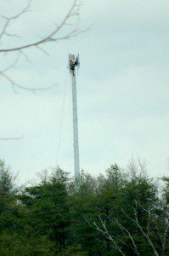
[[[35,40],[29,44],[22,44],[19,42],[17,46],[11,46],[9,48],[5,46],[3,47],[3,39],[9,38],[11,40],[12,38],[20,38],[20,35],[14,32],[10,32],[9,28],[15,20],[20,19],[20,16],[25,15],[27,12],[31,11],[31,0],[29,0],[27,5],[23,9],[21,9],[20,12],[18,12],[16,15],[0,16],[0,20],[2,20],[3,24],[0,28],[0,55],[3,56],[15,53],[15,59],[12,62],[12,64],[10,64],[8,67],[0,69],[0,77],[2,77],[8,82],[9,86],[11,86],[14,92],[16,92],[17,89],[30,90],[31,92],[36,92],[37,90],[48,90],[54,86],[51,85],[47,87],[26,87],[24,84],[19,84],[18,82],[16,82],[8,74],[8,71],[16,67],[16,64],[18,63],[21,55],[25,57],[25,61],[30,61],[26,53],[26,49],[36,48],[38,50],[41,50],[43,54],[48,55],[48,51],[42,48],[44,44],[56,43],[60,40],[70,39],[76,37],[79,33],[83,32],[79,29],[77,25],[78,19],[74,20],[72,23],[70,22],[71,18],[78,18],[81,5],[82,3],[79,2],[79,0],[73,0],[73,3],[71,4],[69,11],[67,12],[67,14],[65,14],[64,18],[60,20],[58,25],[54,25],[54,28],[51,30],[51,32],[49,32],[43,38]],[[65,26],[68,26],[66,32],[64,32]],[[21,137],[1,137],[0,140],[19,140],[20,138]]]

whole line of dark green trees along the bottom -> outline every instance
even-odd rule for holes
[[[0,255],[169,255],[169,178],[161,183],[132,162],[76,184],[54,168],[19,188],[0,160]]]

